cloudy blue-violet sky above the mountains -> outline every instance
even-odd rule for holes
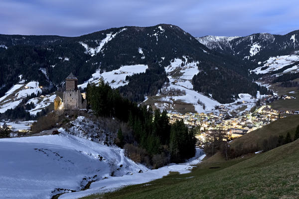
[[[299,29],[299,0],[0,0],[0,10],[0,34],[78,36],[159,23],[193,36]]]

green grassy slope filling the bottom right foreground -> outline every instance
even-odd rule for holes
[[[298,152],[299,140],[252,158],[200,164],[189,174],[171,174],[152,181],[147,186],[129,186],[118,192],[84,199],[297,198]]]

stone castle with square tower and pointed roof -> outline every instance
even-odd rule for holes
[[[82,108],[82,96],[80,90],[78,90],[78,79],[72,73],[65,79],[63,108],[65,110],[78,110]]]

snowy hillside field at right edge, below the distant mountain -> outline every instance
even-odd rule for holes
[[[290,64],[293,64],[295,62],[299,61],[299,55],[284,55],[284,56],[278,56],[278,57],[270,57],[267,61],[264,62],[264,65],[261,67],[258,67],[251,72],[254,72],[256,74],[266,74],[270,73],[272,71],[277,71],[285,66],[288,66]],[[265,70],[262,70],[262,67],[268,67]],[[290,71],[299,71],[298,66],[294,66],[290,69],[285,70],[283,73],[287,73]]]

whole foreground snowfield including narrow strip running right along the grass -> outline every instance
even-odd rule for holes
[[[125,157],[124,150],[67,134],[0,139],[0,196],[9,199],[59,199],[114,191],[146,183],[170,171],[187,173],[203,158],[202,150],[184,164],[150,170]],[[142,173],[139,173],[142,171]],[[114,176],[111,176],[114,172]],[[88,181],[90,189],[80,191]],[[59,190],[60,189],[60,190]]]

